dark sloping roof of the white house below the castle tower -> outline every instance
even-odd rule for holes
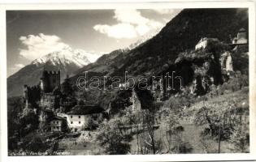
[[[95,106],[95,105],[76,105],[67,114],[86,115],[86,114],[93,114],[93,113],[102,113],[103,111],[104,111],[104,109],[102,109],[100,106]]]

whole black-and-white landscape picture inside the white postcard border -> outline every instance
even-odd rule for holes
[[[5,28],[7,156],[250,153],[248,7],[15,9]]]

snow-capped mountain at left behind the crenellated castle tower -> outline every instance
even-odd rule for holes
[[[24,84],[34,86],[39,83],[42,70],[60,70],[61,79],[81,67],[88,65],[89,56],[93,53],[86,53],[82,49],[66,48],[49,53],[42,58],[37,58],[29,65],[24,66],[14,75],[7,79],[8,96],[20,96],[23,93]]]

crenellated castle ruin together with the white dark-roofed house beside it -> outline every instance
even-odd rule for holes
[[[71,96],[72,87],[68,79],[65,81],[61,87],[60,71],[43,70],[37,86],[24,85],[25,106],[38,103],[40,107],[37,109],[40,111],[36,113],[38,113],[41,132],[63,132],[68,128],[73,132],[80,131],[91,127],[92,121],[97,121],[104,115],[105,110],[99,106],[76,105],[76,99]],[[63,111],[63,116],[59,117],[55,109]]]

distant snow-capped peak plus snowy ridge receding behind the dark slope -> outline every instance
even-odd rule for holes
[[[139,40],[132,43],[127,48],[117,49],[111,53],[102,54],[103,56],[99,58],[98,63],[109,62],[111,59],[119,55],[119,53],[136,48],[146,40],[149,40],[157,32],[158,30],[156,30],[154,33],[142,36]],[[22,88],[24,84],[33,86],[39,83],[42,70],[61,70],[61,80],[63,81],[67,75],[72,76],[78,74],[79,71],[82,71],[83,67],[86,65],[94,66],[93,62],[95,62],[98,55],[101,54],[95,55],[95,53],[88,53],[83,49],[72,49],[71,47],[65,47],[62,50],[48,53],[42,58],[37,58],[29,65],[24,66],[22,69],[17,71],[14,75],[8,77],[8,96],[22,95]]]

